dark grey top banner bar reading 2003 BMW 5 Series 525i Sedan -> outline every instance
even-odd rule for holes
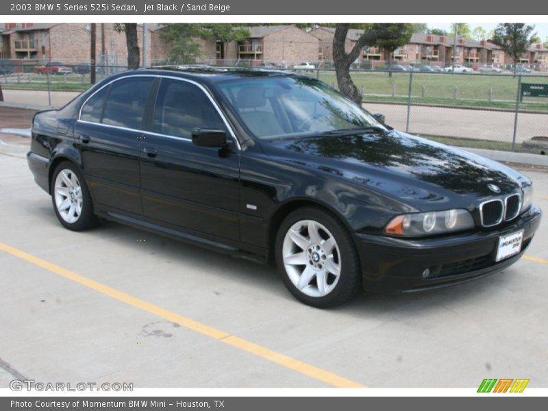
[[[0,3],[3,16],[44,15],[129,15],[129,16],[207,16],[207,15],[393,15],[434,16],[440,14],[497,15],[514,14],[541,16],[548,14],[548,3],[538,0],[521,0],[518,3],[497,1],[496,7],[489,1],[418,0],[418,1],[368,1],[337,0],[319,1],[256,1],[217,0],[215,2],[188,0],[8,0]],[[517,16],[513,16],[517,17]],[[516,18],[514,18],[516,20]]]

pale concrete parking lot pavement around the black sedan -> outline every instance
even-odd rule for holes
[[[548,386],[546,216],[501,273],[317,310],[269,266],[116,223],[64,229],[27,168],[29,139],[0,139],[0,387]],[[525,173],[547,209],[548,174]]]

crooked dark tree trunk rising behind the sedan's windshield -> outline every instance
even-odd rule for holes
[[[362,93],[356,88],[352,81],[352,77],[350,77],[350,64],[352,64],[351,56],[345,51],[348,26],[349,25],[347,24],[338,24],[335,29],[335,36],[333,38],[333,60],[338,89],[349,99],[361,104]]]

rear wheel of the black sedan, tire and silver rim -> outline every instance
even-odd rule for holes
[[[71,162],[62,162],[53,171],[51,201],[55,215],[68,229],[82,231],[99,224],[84,177]]]

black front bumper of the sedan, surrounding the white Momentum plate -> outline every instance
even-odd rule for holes
[[[529,246],[542,212],[532,206],[498,230],[456,236],[403,239],[355,234],[365,290],[412,292],[459,284],[514,264]],[[523,229],[521,252],[495,261],[500,236]],[[423,278],[429,269],[430,275]]]

